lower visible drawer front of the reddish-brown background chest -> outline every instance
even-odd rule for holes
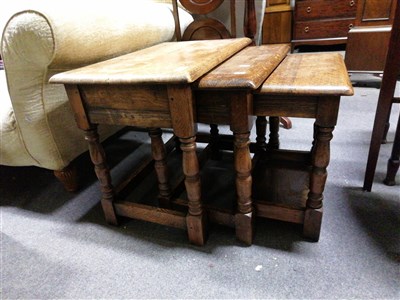
[[[349,18],[334,21],[296,22],[293,28],[293,38],[303,40],[345,37],[349,29],[353,27],[354,21],[354,18]]]

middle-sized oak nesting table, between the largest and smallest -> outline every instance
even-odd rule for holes
[[[221,143],[212,140],[209,142],[211,147],[233,150],[237,198],[233,201],[234,208],[231,211],[218,212],[208,206],[208,216],[210,221],[235,227],[237,239],[247,245],[253,240],[256,216],[252,201],[249,148],[250,130],[254,123],[251,116],[253,95],[289,51],[288,44],[247,47],[201,77],[194,85],[197,122],[229,125],[233,132],[233,137],[227,136],[228,147],[221,147]],[[214,200],[211,202],[218,199]]]

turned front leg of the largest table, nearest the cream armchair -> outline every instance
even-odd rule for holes
[[[99,141],[97,126],[85,130],[85,139],[89,143],[90,158],[94,164],[94,170],[100,182],[102,192],[101,206],[103,208],[106,222],[118,225],[117,216],[114,211],[114,188],[111,183],[110,170],[106,163],[106,155],[103,146]]]

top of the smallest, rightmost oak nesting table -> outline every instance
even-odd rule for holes
[[[351,96],[353,87],[342,55],[304,53],[288,55],[263,83],[259,93]]]

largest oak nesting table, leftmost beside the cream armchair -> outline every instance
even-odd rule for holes
[[[187,228],[190,242],[204,244],[206,214],[201,199],[195,97],[191,84],[250,43],[248,38],[163,43],[50,79],[51,83],[65,85],[78,127],[85,131],[108,223],[117,224],[117,215],[121,215]],[[116,191],[120,189],[112,185],[97,124],[150,129],[160,204],[166,206],[171,201],[171,189],[159,128],[173,129],[182,149],[187,215],[117,198]]]

